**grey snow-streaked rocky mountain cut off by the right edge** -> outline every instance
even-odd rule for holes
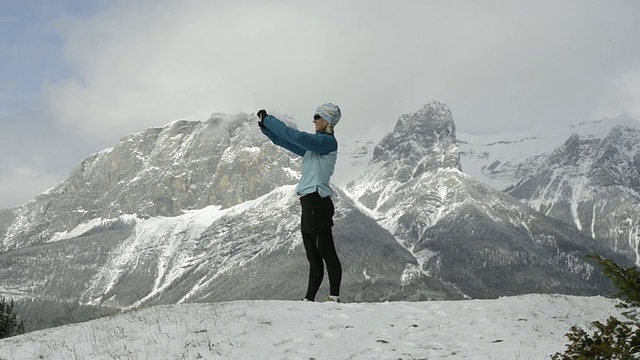
[[[640,264],[640,129],[574,134],[507,192]]]

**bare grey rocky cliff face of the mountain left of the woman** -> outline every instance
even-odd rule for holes
[[[16,212],[0,250],[47,242],[90,220],[227,208],[297,182],[297,159],[268,144],[249,115],[178,121],[124,137]]]

